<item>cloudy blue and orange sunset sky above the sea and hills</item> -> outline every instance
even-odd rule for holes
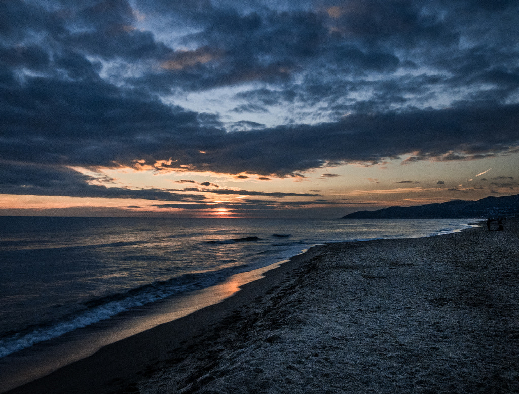
[[[0,215],[519,193],[516,0],[0,0]]]

